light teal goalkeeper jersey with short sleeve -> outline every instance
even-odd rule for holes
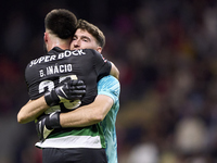
[[[105,136],[105,151],[107,155],[107,163],[117,163],[117,140],[115,123],[117,112],[119,110],[119,82],[111,75],[103,77],[98,83],[98,95],[108,96],[114,101],[112,109],[110,110],[105,118],[101,122]]]

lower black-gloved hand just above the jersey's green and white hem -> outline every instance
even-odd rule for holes
[[[60,112],[43,114],[35,122],[36,130],[40,140],[44,140],[54,128],[61,128]]]

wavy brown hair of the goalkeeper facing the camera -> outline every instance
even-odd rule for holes
[[[85,20],[78,20],[77,29],[78,28],[80,28],[82,30],[87,30],[89,34],[91,34],[97,39],[97,43],[100,47],[104,48],[105,36],[95,25],[93,25]]]

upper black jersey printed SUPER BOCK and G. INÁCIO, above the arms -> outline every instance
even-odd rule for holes
[[[111,62],[92,49],[62,50],[53,48],[48,54],[33,60],[25,70],[28,95],[31,100],[55,88],[67,77],[81,79],[86,84],[86,95],[81,105],[93,102],[98,80],[110,74]]]

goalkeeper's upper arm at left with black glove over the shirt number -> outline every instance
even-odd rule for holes
[[[18,112],[17,122],[26,124],[35,121],[50,106],[58,105],[65,100],[77,100],[86,93],[82,80],[66,80],[63,85],[53,88],[37,100],[29,100]]]

